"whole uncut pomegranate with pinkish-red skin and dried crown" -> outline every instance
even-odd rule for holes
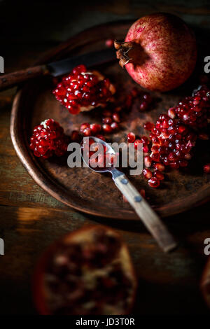
[[[120,66],[142,87],[161,92],[186,81],[195,67],[193,31],[183,20],[155,13],[134,22],[125,42],[115,41]]]

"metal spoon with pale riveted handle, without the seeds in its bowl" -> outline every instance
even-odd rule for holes
[[[93,139],[95,143],[101,143],[106,146],[106,153],[115,154],[113,148],[111,148],[111,146],[105,141],[102,141],[102,139],[98,139],[97,137],[89,138]],[[81,155],[83,158],[82,151]],[[176,241],[174,241],[174,238],[169,233],[165,225],[162,223],[160,217],[155,213],[155,211],[153,211],[148,202],[146,202],[146,200],[141,197],[137,189],[134,188],[132,183],[127,179],[123,172],[120,172],[120,170],[116,169],[115,167],[92,168],[89,163],[85,161],[84,158],[83,161],[85,162],[85,165],[87,165],[87,167],[92,169],[94,172],[110,172],[112,174],[112,179],[114,183],[116,184],[120,192],[125,195],[127,201],[134,208],[134,211],[136,211],[141,221],[144,223],[148,231],[151,232],[151,235],[153,235],[153,237],[158,242],[163,251],[168,252],[176,248]]]

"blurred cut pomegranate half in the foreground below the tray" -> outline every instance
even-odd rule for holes
[[[129,314],[136,290],[127,246],[100,225],[74,231],[50,246],[34,275],[40,314]]]

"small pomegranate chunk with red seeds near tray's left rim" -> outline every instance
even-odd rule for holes
[[[34,155],[43,159],[52,155],[64,155],[69,144],[69,138],[64,134],[63,128],[53,119],[47,119],[34,127],[30,141],[29,147],[34,151]]]

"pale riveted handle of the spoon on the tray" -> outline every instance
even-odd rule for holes
[[[116,183],[120,192],[125,195],[127,201],[134,208],[141,221],[148,231],[151,232],[151,235],[153,235],[163,251],[168,252],[176,248],[176,241],[174,241],[174,238],[162,223],[160,217],[153,211],[148,202],[141,197],[127,177],[122,174],[113,177],[113,181]]]

